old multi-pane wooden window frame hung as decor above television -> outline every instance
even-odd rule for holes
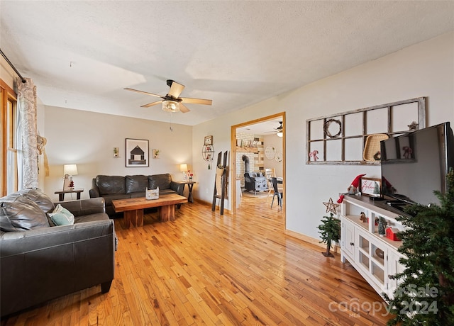
[[[394,137],[422,128],[426,128],[426,97],[307,119],[306,164],[379,165],[380,152],[367,155],[375,160],[364,158],[368,136]]]

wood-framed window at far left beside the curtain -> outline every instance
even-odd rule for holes
[[[0,79],[0,196],[18,190],[16,93]]]

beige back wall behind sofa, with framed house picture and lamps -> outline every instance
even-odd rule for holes
[[[63,164],[77,164],[74,186],[84,189],[82,198],[89,198],[97,174],[170,173],[172,179],[182,180],[179,164],[187,163],[192,169],[192,127],[172,124],[172,129],[170,123],[46,106],[50,176],[43,190],[57,200],[54,192],[62,189]],[[149,140],[149,167],[125,166],[126,138]],[[119,147],[118,158],[114,147]],[[158,159],[153,159],[153,149],[160,150]]]

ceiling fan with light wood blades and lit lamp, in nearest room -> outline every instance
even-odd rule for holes
[[[167,86],[170,87],[170,90],[166,96],[148,93],[148,91],[139,91],[138,89],[130,89],[128,87],[126,87],[125,89],[127,91],[136,91],[138,93],[155,96],[155,97],[160,97],[162,99],[160,101],[155,101],[155,102],[140,106],[141,108],[149,108],[150,106],[155,106],[157,104],[162,103],[162,110],[164,110],[164,111],[167,111],[167,112],[182,111],[182,113],[187,113],[190,110],[189,110],[189,108],[187,108],[187,106],[184,106],[183,103],[204,104],[207,106],[211,106],[211,103],[213,103],[212,100],[192,99],[189,97],[179,97],[179,94],[182,94],[184,85],[178,84],[176,81],[173,81],[172,79],[167,79]]]

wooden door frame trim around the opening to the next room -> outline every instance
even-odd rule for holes
[[[284,189],[284,193],[285,193],[285,183],[286,183],[286,180],[287,178],[285,177],[285,111],[284,112],[280,112],[280,113],[276,113],[276,114],[273,114],[272,116],[265,116],[265,117],[262,117],[262,118],[258,118],[258,119],[255,119],[255,120],[250,120],[250,121],[246,121],[244,123],[240,123],[238,125],[232,125],[231,126],[231,185],[232,185],[232,206],[231,206],[231,211],[233,214],[236,214],[236,193],[238,191],[238,189],[236,189],[236,130],[238,128],[243,128],[247,125],[255,125],[257,123],[261,123],[261,122],[265,122],[265,121],[268,121],[268,120],[275,120],[275,118],[282,118],[282,126],[284,127],[284,130],[283,130],[283,135],[282,135],[282,177],[284,178],[284,180],[282,181],[282,186],[283,186],[283,189]],[[232,172],[235,172],[235,174],[233,174]],[[239,190],[241,191],[241,189]],[[283,209],[282,209],[282,215],[284,216],[284,221],[285,221],[285,211],[286,211],[286,205],[285,205],[285,201],[286,201],[286,198],[287,196],[283,196]],[[284,223],[284,227],[285,227],[285,223]]]

